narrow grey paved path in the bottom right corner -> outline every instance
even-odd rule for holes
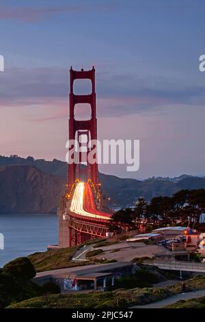
[[[161,301],[157,301],[155,303],[146,304],[144,306],[132,306],[132,308],[164,308],[165,306],[174,304],[180,299],[192,299],[201,296],[205,296],[205,290],[194,290],[192,292],[181,293],[172,297],[167,297],[167,299],[162,299]]]

